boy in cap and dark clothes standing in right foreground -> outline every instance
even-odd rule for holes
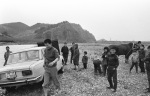
[[[107,79],[109,82],[109,87],[107,89],[114,89],[113,92],[117,90],[117,68],[119,66],[119,60],[116,55],[118,49],[116,47],[110,48],[110,55],[108,55],[108,67],[107,67]]]

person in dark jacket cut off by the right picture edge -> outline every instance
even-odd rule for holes
[[[147,54],[144,58],[144,62],[146,64],[146,70],[147,70],[147,78],[148,78],[148,88],[147,92],[150,92],[150,46],[147,48]]]

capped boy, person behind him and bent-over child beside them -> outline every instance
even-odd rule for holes
[[[93,60],[95,75],[97,75],[97,70],[100,75],[107,75],[107,80],[109,82],[107,89],[113,89],[113,92],[117,90],[117,68],[119,66],[118,56],[116,55],[117,51],[115,47],[111,49],[104,47],[104,52],[101,57],[102,61],[100,58],[94,58]]]

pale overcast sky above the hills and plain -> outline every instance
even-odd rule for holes
[[[0,0],[0,24],[80,24],[97,40],[150,41],[150,0]]]

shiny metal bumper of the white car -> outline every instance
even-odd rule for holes
[[[27,84],[38,83],[43,80],[43,76],[38,76],[34,78],[28,78],[26,80],[19,80],[19,81],[10,81],[5,83],[0,83],[0,87],[13,87],[13,86],[21,86]]]

